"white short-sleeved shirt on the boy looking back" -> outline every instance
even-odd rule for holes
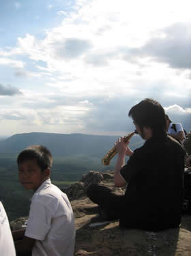
[[[67,195],[46,180],[35,191],[25,236],[33,238],[32,256],[73,256],[74,214]]]

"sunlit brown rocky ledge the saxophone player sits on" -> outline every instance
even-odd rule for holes
[[[114,187],[113,171],[100,173],[89,171],[80,182],[63,191],[70,198],[76,217],[75,256],[190,256],[191,216],[184,215],[177,229],[147,232],[136,229],[121,229],[119,221],[102,221],[98,216],[98,205],[86,197],[87,186],[98,182],[123,193]],[[12,223],[18,228],[26,218]]]

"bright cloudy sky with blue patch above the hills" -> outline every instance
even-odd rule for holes
[[[191,130],[190,10],[190,0],[1,1],[1,136],[123,135],[143,98]]]

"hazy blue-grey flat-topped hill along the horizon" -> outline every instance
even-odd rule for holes
[[[103,156],[113,147],[118,137],[89,135],[89,134],[56,134],[31,132],[14,134],[12,137],[0,141],[0,153],[18,154],[29,145],[44,145],[53,156]],[[141,137],[134,135],[131,139],[132,147],[139,147],[143,143]]]

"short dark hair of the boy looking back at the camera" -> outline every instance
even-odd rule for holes
[[[53,165],[53,156],[48,148],[42,145],[31,145],[18,154],[16,159],[17,165],[25,160],[35,159],[41,171],[51,168]]]

